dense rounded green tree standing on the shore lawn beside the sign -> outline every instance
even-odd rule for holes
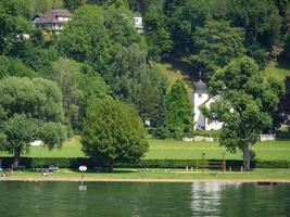
[[[83,151],[111,170],[116,163],[138,162],[148,150],[143,124],[131,106],[103,99],[88,108],[86,117]]]

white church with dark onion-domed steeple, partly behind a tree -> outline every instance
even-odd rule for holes
[[[219,122],[209,122],[206,117],[201,113],[199,106],[205,105],[206,107],[210,106],[212,102],[214,102],[215,98],[211,97],[207,93],[207,87],[205,82],[201,79],[196,82],[196,90],[191,93],[191,102],[193,103],[193,115],[194,115],[194,129],[202,129],[202,130],[217,130],[223,127],[223,123]]]

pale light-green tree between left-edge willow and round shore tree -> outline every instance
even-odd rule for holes
[[[104,80],[91,67],[63,58],[52,63],[49,78],[62,90],[66,124],[75,132],[81,131],[88,102],[108,93]]]

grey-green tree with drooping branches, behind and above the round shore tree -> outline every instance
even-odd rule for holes
[[[150,71],[147,55],[137,43],[123,48],[114,59],[111,71],[104,75],[115,95],[136,105],[143,119],[155,123],[161,98],[164,98],[164,79]]]

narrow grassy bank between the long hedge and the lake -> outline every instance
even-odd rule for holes
[[[2,177],[0,180],[79,180],[80,173],[62,169],[49,177],[36,171],[12,174],[11,177]],[[290,169],[254,169],[252,171],[187,171],[185,169],[115,169],[113,173],[85,174],[88,181],[290,181]]]

